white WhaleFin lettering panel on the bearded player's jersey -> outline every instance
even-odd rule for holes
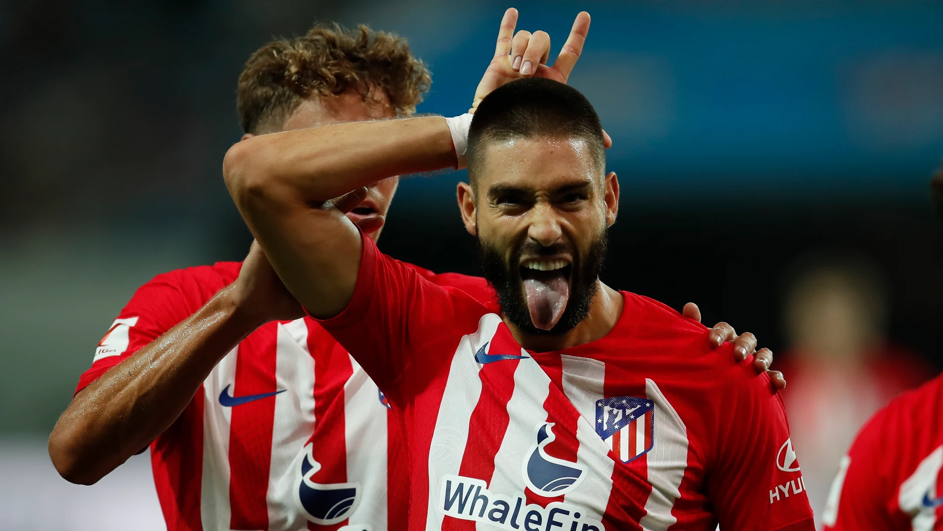
[[[527,504],[523,492],[505,496],[481,479],[446,474],[438,492],[438,511],[460,520],[488,523],[509,531],[605,531],[586,510],[563,502]]]

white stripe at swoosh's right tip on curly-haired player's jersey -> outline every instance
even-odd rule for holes
[[[298,319],[279,324],[275,343],[272,461],[266,502],[269,529],[306,529],[307,520],[295,507],[294,464],[314,430],[314,357],[307,350],[307,324]],[[226,407],[226,409],[231,409]]]

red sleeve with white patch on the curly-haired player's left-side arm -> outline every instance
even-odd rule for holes
[[[188,316],[190,308],[173,274],[158,274],[134,296],[95,347],[91,368],[78,379],[75,392],[156,340]]]

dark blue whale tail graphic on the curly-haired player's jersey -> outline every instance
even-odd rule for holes
[[[321,463],[312,455],[313,444],[302,450],[298,467],[298,508],[313,523],[331,525],[349,518],[359,503],[359,483],[315,483],[311,476],[321,470]]]

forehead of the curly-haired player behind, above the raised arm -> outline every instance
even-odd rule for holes
[[[336,96],[307,98],[285,120],[284,129],[388,118],[396,118],[396,111],[389,105],[386,93],[372,91],[369,98],[364,98],[360,91],[351,89]]]

